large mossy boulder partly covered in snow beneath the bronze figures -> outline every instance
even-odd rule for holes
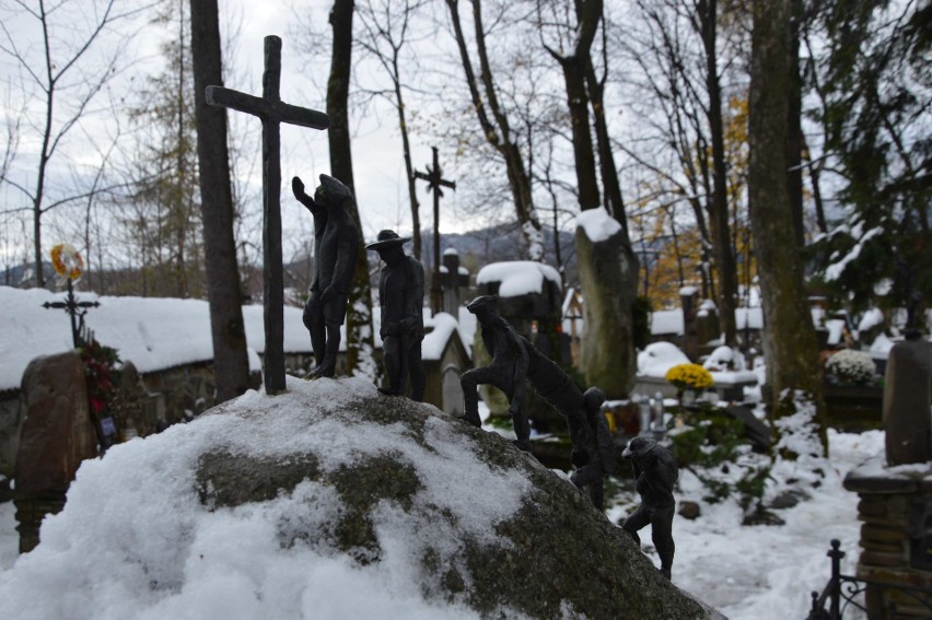
[[[362,379],[288,390],[85,463],[0,573],[4,613],[721,617],[499,435]]]

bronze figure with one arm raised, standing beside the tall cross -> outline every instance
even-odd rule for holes
[[[291,189],[314,215],[314,279],[303,318],[317,365],[308,378],[331,377],[337,370],[340,326],[346,320],[359,253],[359,233],[346,211],[353,197],[346,185],[325,174],[313,198],[296,176],[291,179]]]

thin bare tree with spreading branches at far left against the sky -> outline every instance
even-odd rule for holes
[[[86,198],[86,191],[72,189],[56,200],[49,200],[49,177],[53,162],[71,131],[93,113],[92,104],[104,86],[119,72],[126,59],[126,46],[131,33],[127,24],[145,10],[136,4],[119,10],[116,0],[77,2],[62,0],[13,0],[5,5],[0,20],[0,52],[10,58],[23,75],[23,93],[37,90],[37,107],[42,118],[28,124],[39,143],[34,180],[20,183],[7,174],[5,183],[15,187],[28,200],[33,215],[33,259],[36,285],[45,285],[43,274],[42,223],[49,210]],[[28,27],[11,30],[12,19],[30,22]],[[8,21],[9,20],[9,21]],[[34,30],[39,33],[38,46],[33,44]],[[67,34],[62,34],[67,33]],[[106,40],[105,40],[106,39]],[[109,48],[102,49],[104,45]]]

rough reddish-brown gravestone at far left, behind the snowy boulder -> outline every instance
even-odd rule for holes
[[[25,553],[38,545],[45,515],[65,506],[81,461],[97,456],[81,358],[69,351],[30,362],[23,374],[22,409],[13,498],[20,552]]]

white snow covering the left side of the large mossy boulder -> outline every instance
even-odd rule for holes
[[[455,523],[479,540],[498,540],[496,524],[511,516],[528,481],[491,470],[471,444],[450,437],[451,422],[432,418],[427,446],[412,449],[400,425],[357,426],[347,433],[329,417],[352,399],[377,398],[361,378],[288,378],[288,394],[249,391],[189,424],[119,444],[85,461],[62,513],[42,527],[42,543],[13,557],[12,511],[0,513],[3,616],[16,619],[159,618],[473,618],[457,606],[422,598],[421,545],[410,538],[406,513],[388,503],[373,513],[380,562],[352,563],[326,541],[282,545],[282,523],[302,519],[326,531],[339,502],[313,480],[261,504],[209,510],[198,500],[197,459],[218,449],[256,458],[313,452],[323,471],[360,455],[404,455],[423,489],[416,501],[448,515],[422,533],[435,545],[457,546]],[[260,416],[261,431],[242,431]],[[313,428],[313,432],[307,432]],[[255,430],[256,425],[249,425]],[[451,484],[458,471],[489,469],[484,488]],[[455,489],[455,492],[452,490]],[[494,501],[489,501],[494,498]],[[436,531],[434,531],[436,529]],[[445,542],[444,542],[445,541]],[[53,595],[54,593],[54,595]]]

